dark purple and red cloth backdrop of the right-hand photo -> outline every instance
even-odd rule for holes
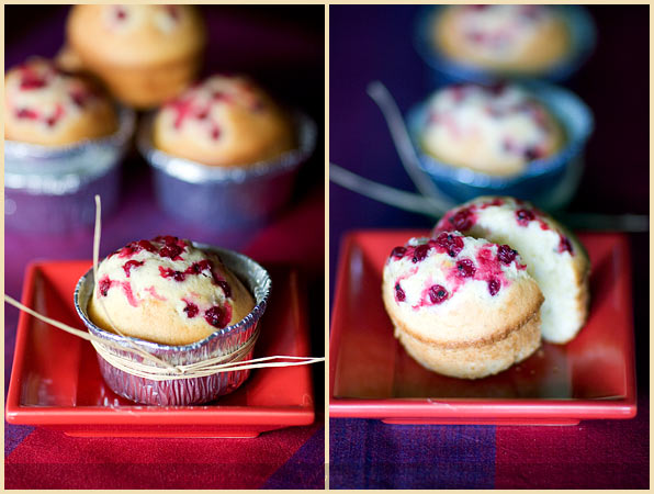
[[[329,159],[382,183],[414,190],[381,111],[365,87],[381,80],[407,111],[432,89],[413,46],[415,5],[329,9]],[[597,49],[566,82],[593,110],[596,128],[572,211],[647,214],[649,8],[589,11]],[[429,228],[430,220],[329,188],[331,300],[343,233],[365,227]],[[630,235],[639,414],[576,427],[390,426],[330,420],[334,489],[649,486],[649,235]]]

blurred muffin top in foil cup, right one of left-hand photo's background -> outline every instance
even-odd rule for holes
[[[159,149],[219,167],[247,167],[294,146],[291,120],[243,76],[217,75],[189,88],[155,116]]]

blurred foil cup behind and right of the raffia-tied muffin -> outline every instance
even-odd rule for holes
[[[170,216],[213,231],[261,226],[287,202],[297,169],[316,147],[316,124],[294,112],[297,148],[270,161],[244,167],[212,167],[169,155],[153,145],[149,114],[137,145],[154,170],[159,206]]]

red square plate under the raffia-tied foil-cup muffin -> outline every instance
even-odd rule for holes
[[[26,270],[23,304],[84,329],[72,292],[90,261],[38,262]],[[307,356],[305,301],[297,276],[270,270],[273,283],[256,357]],[[308,366],[252,371],[234,393],[200,406],[136,405],[104,383],[93,347],[21,313],[7,397],[11,424],[48,426],[70,436],[256,437],[308,425],[314,396]]]

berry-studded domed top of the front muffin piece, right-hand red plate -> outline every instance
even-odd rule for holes
[[[516,250],[458,232],[394,248],[383,278],[386,307],[403,329],[446,345],[512,330],[542,303]]]

